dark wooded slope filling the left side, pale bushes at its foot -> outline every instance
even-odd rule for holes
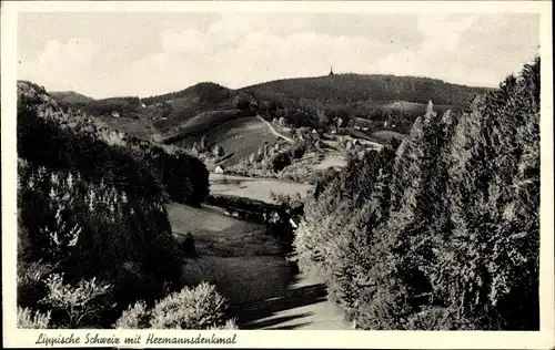
[[[182,289],[183,254],[164,206],[204,200],[204,165],[70,112],[18,82],[19,326],[140,328],[129,320],[138,310],[121,316],[130,305],[162,328],[221,312],[215,290]],[[188,309],[202,300],[218,308]],[[224,316],[212,321],[225,325]]]

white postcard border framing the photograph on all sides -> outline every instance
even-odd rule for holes
[[[333,2],[165,2],[165,1],[29,1],[2,2],[1,8],[1,113],[2,113],[2,317],[4,347],[38,347],[39,333],[57,337],[71,331],[22,330],[16,328],[16,70],[17,70],[17,16],[18,12],[528,12],[541,13],[542,49],[542,194],[541,194],[541,331],[538,332],[426,332],[426,331],[281,331],[242,330],[234,346],[241,348],[412,348],[412,349],[549,349],[555,347],[554,294],[554,206],[553,206],[553,41],[551,1],[333,1]],[[100,333],[147,337],[150,330],[79,330],[75,336]],[[155,331],[157,337],[196,337],[199,331]],[[211,331],[203,334],[211,336]],[[226,337],[234,331],[219,331]],[[87,347],[87,344],[81,344]],[[120,346],[124,347],[124,346]],[[139,347],[147,347],[144,343]],[[171,344],[160,346],[171,348]],[[195,344],[195,348],[218,346]]]

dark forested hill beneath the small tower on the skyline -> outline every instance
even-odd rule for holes
[[[244,87],[252,95],[261,115],[284,117],[290,126],[354,126],[354,119],[389,121],[392,131],[407,133],[432,99],[440,111],[458,111],[476,94],[490,89],[448,84],[414,76],[341,74],[320,78],[280,80]],[[410,101],[398,109],[389,102]],[[418,105],[420,104],[420,105]],[[392,126],[394,125],[394,126]]]

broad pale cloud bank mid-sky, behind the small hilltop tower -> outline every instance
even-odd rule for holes
[[[398,42],[390,39],[320,32],[296,20],[279,27],[281,20],[236,14],[213,22],[206,31],[165,31],[161,34],[162,52],[133,62],[125,75],[133,76],[133,84],[149,81],[142,94],[184,89],[200,81],[241,87],[290,76],[323,75],[330,65],[343,72],[379,72],[375,62],[398,50]]]

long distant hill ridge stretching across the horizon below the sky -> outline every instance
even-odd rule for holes
[[[406,133],[430,100],[438,111],[461,110],[475,94],[487,90],[427,78],[339,74],[279,80],[239,90],[202,82],[144,99],[89,101],[81,109],[110,127],[143,140],[155,136],[167,144],[190,144],[221,124],[256,113],[269,121],[283,119],[282,124],[292,127],[329,130],[364,124],[369,135],[382,130]]]

